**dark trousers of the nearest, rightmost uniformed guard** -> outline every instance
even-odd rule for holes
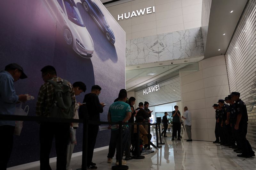
[[[253,152],[252,146],[249,143],[249,141],[246,139],[247,122],[245,122],[245,123],[240,122],[238,130],[236,130],[236,133],[237,133],[239,144],[241,144],[243,154],[248,155],[248,154],[252,153]]]

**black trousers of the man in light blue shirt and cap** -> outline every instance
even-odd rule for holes
[[[6,170],[12,153],[14,126],[0,126],[0,169]]]

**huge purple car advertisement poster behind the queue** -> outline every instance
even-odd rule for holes
[[[0,4],[0,69],[9,63],[23,67],[28,78],[15,82],[15,89],[17,94],[35,97],[23,104],[29,106],[28,115],[36,115],[37,95],[44,83],[40,70],[52,65],[57,76],[71,84],[86,84],[77,102],[82,103],[92,85],[100,85],[99,100],[107,104],[100,119],[107,121],[108,107],[125,88],[125,33],[100,0],[8,0]],[[82,129],[79,124],[74,152],[82,151]],[[109,139],[109,130],[100,131],[95,147],[107,146]],[[55,156],[53,144],[50,157]],[[8,167],[38,160],[39,123],[23,122],[20,136],[14,136]]]

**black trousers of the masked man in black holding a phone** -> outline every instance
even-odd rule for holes
[[[93,157],[93,150],[99,131],[99,125],[89,124],[88,126],[88,146],[87,146],[87,166],[90,166]]]

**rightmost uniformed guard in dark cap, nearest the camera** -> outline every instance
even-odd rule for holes
[[[248,122],[248,114],[247,108],[245,103],[240,99],[239,92],[232,92],[231,99],[235,101],[235,109],[236,109],[236,124],[235,129],[238,136],[239,144],[242,147],[242,154],[237,155],[238,157],[243,158],[250,158],[255,156],[254,152],[252,151],[252,146],[250,145],[249,141],[246,139],[247,134],[247,122]]]

